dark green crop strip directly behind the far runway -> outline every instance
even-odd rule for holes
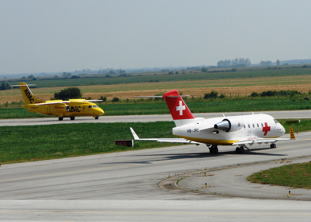
[[[302,98],[257,98],[257,99],[217,99],[195,101],[191,98],[185,99],[188,108],[193,113],[203,112],[242,112],[242,111],[276,111],[276,110],[309,110],[311,102]],[[17,107],[17,105],[15,105]],[[119,115],[148,115],[148,114],[169,114],[169,109],[165,101],[142,102],[137,100],[133,103],[109,102],[99,105],[105,112],[104,116]],[[101,116],[100,118],[104,118]],[[0,119],[15,118],[39,118],[49,117],[38,113],[30,113],[24,108],[2,108],[0,109]]]

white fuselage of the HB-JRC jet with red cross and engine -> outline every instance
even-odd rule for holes
[[[232,145],[250,136],[278,138],[283,134],[284,127],[267,114],[198,119],[196,122],[173,128],[175,136],[211,145]]]

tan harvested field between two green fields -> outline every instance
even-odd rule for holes
[[[174,81],[174,82],[152,82],[114,85],[91,85],[78,86],[82,96],[85,98],[98,99],[101,96],[111,100],[113,97],[121,99],[134,99],[134,96],[156,95],[177,89],[179,93],[194,97],[204,96],[205,93],[217,91],[218,94],[226,96],[249,96],[253,92],[261,93],[267,90],[297,90],[308,93],[311,90],[310,75],[285,76],[285,77],[265,77],[247,79],[215,79],[202,81]],[[50,100],[55,92],[59,92],[64,87],[54,88],[34,88],[32,93],[39,99]],[[0,103],[20,102],[22,100],[21,90],[0,91]]]

